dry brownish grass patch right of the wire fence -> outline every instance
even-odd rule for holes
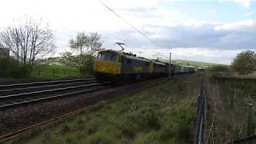
[[[246,137],[247,103],[256,102],[256,83],[246,80],[213,80],[208,90],[210,140],[227,143]],[[256,114],[254,110],[254,114]],[[256,123],[254,122],[254,128]]]

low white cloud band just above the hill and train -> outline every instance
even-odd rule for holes
[[[119,49],[116,49],[119,50]],[[172,59],[183,59],[188,61],[213,62],[230,65],[236,55],[244,50],[219,50],[218,48],[207,47],[174,47],[172,49],[162,49],[158,47],[148,48],[128,48],[126,52],[134,52],[145,58],[168,59],[172,53]]]

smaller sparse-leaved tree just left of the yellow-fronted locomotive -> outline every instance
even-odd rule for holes
[[[93,59],[98,50],[102,50],[101,36],[98,33],[78,33],[76,38],[70,39],[70,48],[74,54],[66,52],[62,54],[66,62],[78,67],[81,74],[91,72]]]

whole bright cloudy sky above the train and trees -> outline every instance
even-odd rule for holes
[[[139,34],[99,0],[0,0],[0,31],[29,16],[54,32],[57,49],[69,51],[78,32],[98,32],[103,47],[146,58],[184,59],[229,65],[243,50],[256,50],[256,1],[101,0],[146,34]]]

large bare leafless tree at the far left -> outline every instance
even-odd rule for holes
[[[35,22],[27,18],[26,22],[14,26],[7,26],[0,34],[2,44],[10,49],[20,64],[26,67],[29,75],[35,59],[52,52],[54,34],[48,26],[42,26],[42,21]]]

